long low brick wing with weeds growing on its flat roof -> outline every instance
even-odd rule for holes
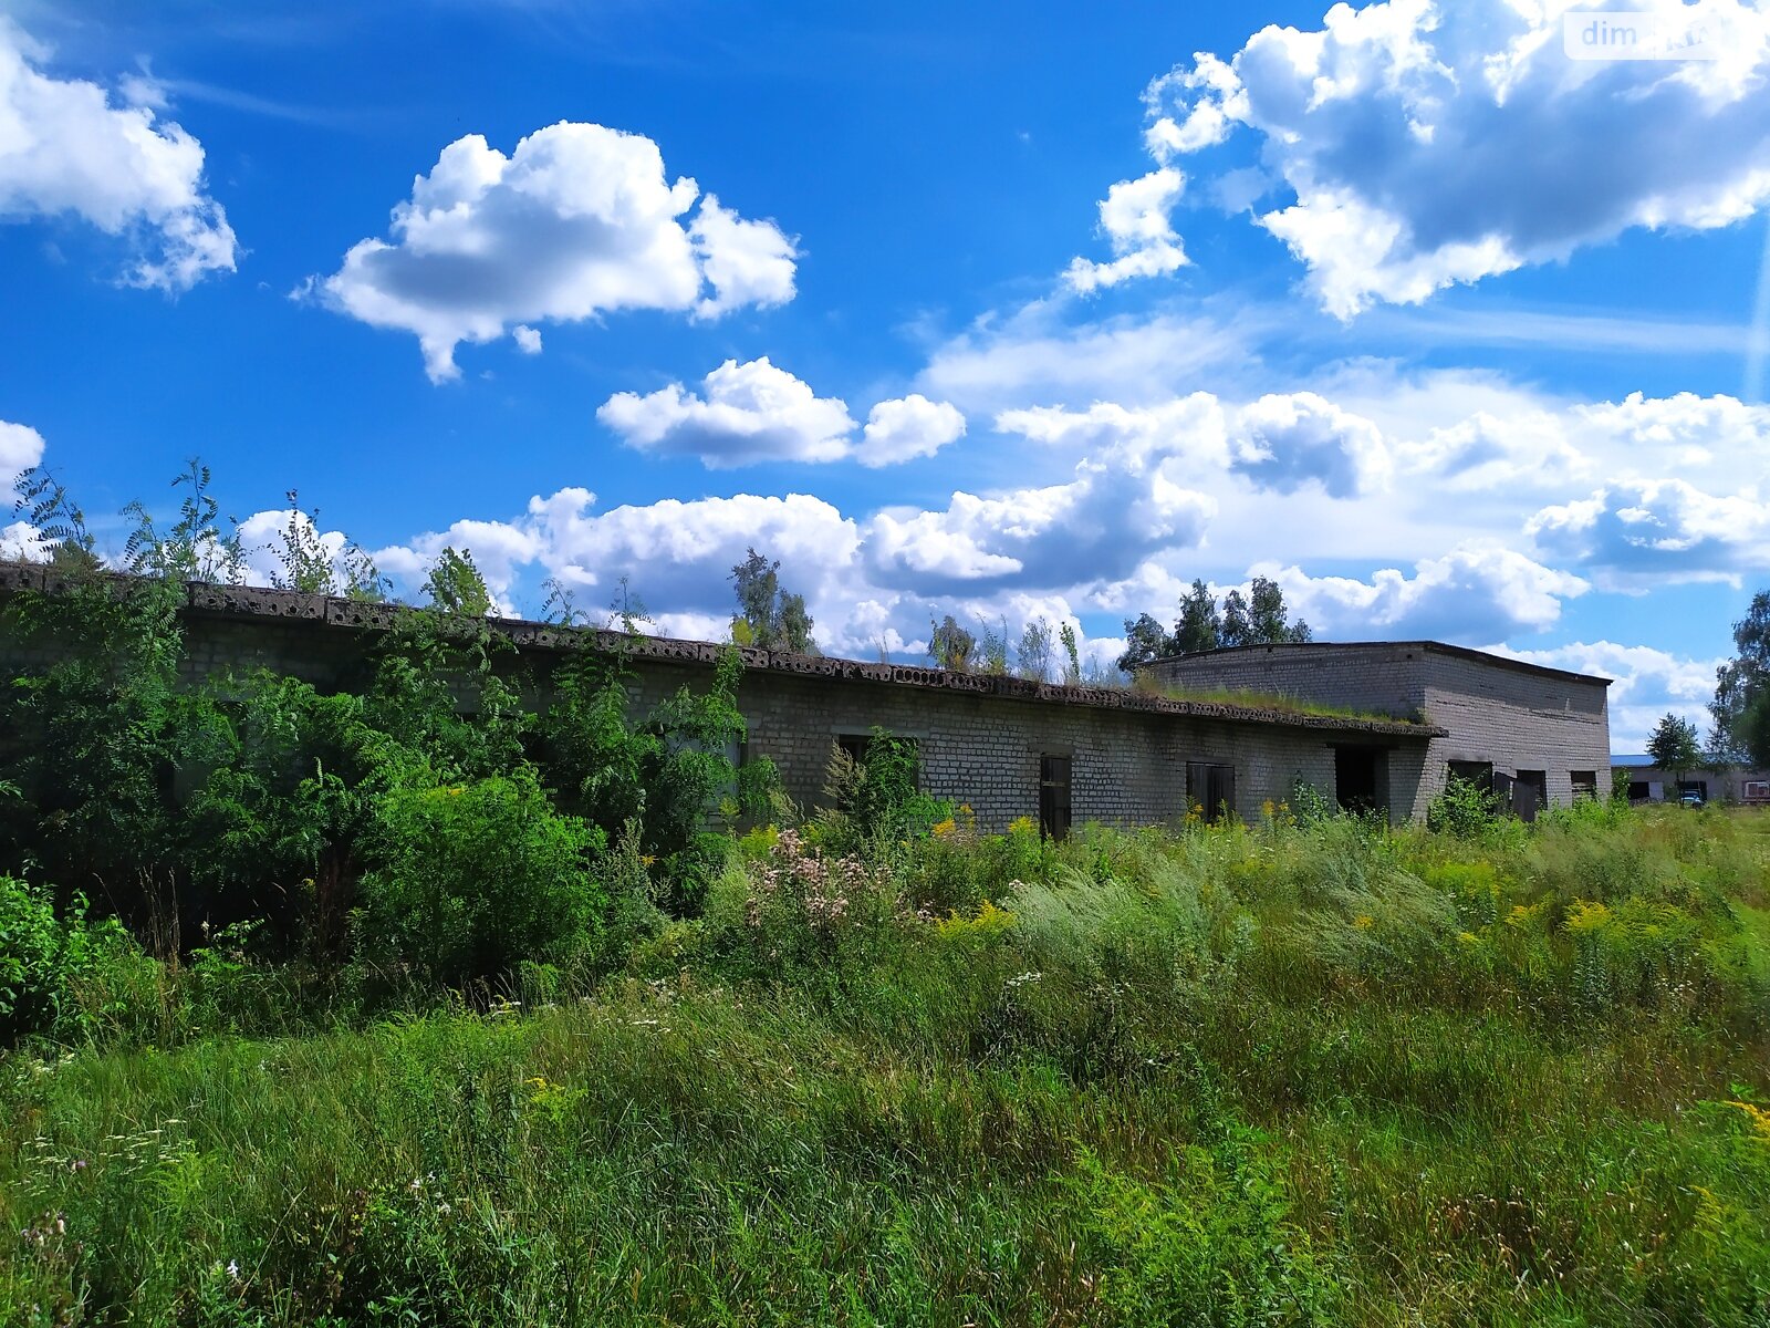
[[[0,565],[0,597],[44,590],[44,568]],[[322,595],[193,584],[184,607],[193,682],[223,669],[271,668],[319,687],[358,685],[393,606]],[[722,650],[696,641],[621,637],[550,623],[492,620],[515,650],[501,668],[531,705],[547,703],[565,652],[621,650],[635,710],[678,687],[710,680]],[[924,791],[965,802],[979,827],[1034,818],[1060,834],[1090,820],[1172,823],[1195,807],[1207,818],[1253,820],[1297,781],[1335,788],[1347,751],[1381,751],[1372,806],[1405,818],[1425,806],[1428,756],[1444,735],[1430,724],[1304,715],[1214,701],[1172,701],[1140,691],[1062,687],[1021,678],[740,648],[738,706],[749,740],[733,756],[768,756],[800,806],[823,797],[832,747],[864,751],[873,728],[912,738]],[[19,673],[50,655],[0,659]],[[1343,774],[1342,774],[1343,783]]]

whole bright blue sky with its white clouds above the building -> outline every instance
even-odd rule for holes
[[[1770,583],[1770,19],[1531,9],[0,0],[0,471],[864,657],[1264,574],[1639,749]]]

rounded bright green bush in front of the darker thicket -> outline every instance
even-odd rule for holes
[[[604,846],[598,829],[554,811],[527,767],[393,790],[377,809],[381,862],[363,878],[363,953],[442,983],[572,960],[604,921],[591,875]]]

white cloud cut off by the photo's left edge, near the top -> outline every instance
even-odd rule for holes
[[[186,290],[234,271],[239,244],[204,189],[204,145],[138,80],[112,96],[53,78],[0,16],[0,220],[78,216],[136,250],[131,285]]]

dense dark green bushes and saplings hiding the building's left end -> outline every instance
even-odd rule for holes
[[[492,981],[519,963],[604,953],[621,836],[632,894],[692,915],[724,862],[717,834],[770,800],[768,761],[742,772],[733,653],[712,685],[634,715],[620,650],[520,668],[485,613],[469,554],[444,549],[430,607],[396,609],[356,676],[331,689],[269,669],[196,675],[184,583],[234,579],[193,462],[182,515],[133,508],[131,577],[90,556],[83,515],[28,476],[58,542],[57,586],[0,611],[4,650],[41,660],[0,694],[0,873],[64,907],[76,892],[168,961],[250,924],[267,956],[336,988]],[[280,584],[363,590],[333,568],[290,496]],[[366,593],[366,590],[363,591]],[[536,714],[524,694],[549,698]],[[21,914],[23,915],[23,914]]]

